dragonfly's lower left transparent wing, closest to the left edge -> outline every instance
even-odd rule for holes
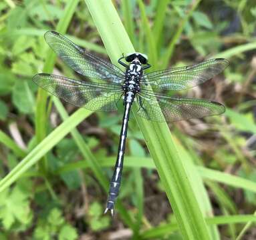
[[[52,95],[91,111],[116,111],[123,93],[114,83],[87,83],[46,73],[35,75],[33,81]]]

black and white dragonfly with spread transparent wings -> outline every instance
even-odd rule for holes
[[[219,115],[225,112],[221,103],[205,99],[174,97],[169,93],[195,87],[221,73],[229,61],[210,59],[186,67],[144,73],[151,67],[148,57],[134,52],[122,55],[116,65],[82,49],[60,33],[47,31],[44,35],[49,47],[83,80],[53,74],[39,73],[33,81],[68,103],[90,111],[116,111],[123,101],[124,115],[118,155],[110,181],[108,201],[104,213],[114,215],[114,204],[120,190],[128,121],[132,103],[138,103],[137,115],[149,121],[174,122],[186,119]]]

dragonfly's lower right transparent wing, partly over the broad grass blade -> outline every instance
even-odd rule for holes
[[[219,115],[225,112],[221,103],[203,99],[166,97],[154,93],[137,95],[138,115],[150,121],[180,121]]]

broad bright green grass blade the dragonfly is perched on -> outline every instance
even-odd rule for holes
[[[112,63],[134,51],[111,1],[86,0]],[[136,116],[136,113],[134,114]],[[166,123],[136,117],[184,239],[211,239],[195,193],[188,181]]]

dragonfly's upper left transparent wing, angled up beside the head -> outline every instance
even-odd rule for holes
[[[77,73],[94,79],[103,79],[110,83],[124,81],[122,70],[78,47],[63,35],[55,31],[47,31],[44,37],[51,49]]]

